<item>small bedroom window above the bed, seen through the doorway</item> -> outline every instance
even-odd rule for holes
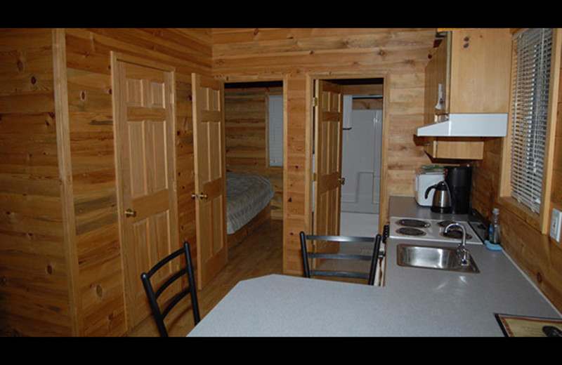
[[[269,166],[283,166],[283,95],[268,95]]]

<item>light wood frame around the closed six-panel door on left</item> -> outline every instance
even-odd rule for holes
[[[118,150],[120,148],[120,146],[118,145],[118,140],[117,140],[117,135],[118,133],[120,133],[119,131],[119,127],[117,126],[117,116],[119,115],[119,112],[121,110],[121,105],[119,105],[119,100],[117,100],[117,97],[119,95],[117,95],[117,93],[115,92],[115,85],[117,83],[117,80],[119,78],[119,75],[117,74],[117,72],[115,72],[115,70],[118,69],[117,67],[117,63],[123,61],[123,62],[132,62],[135,63],[137,65],[141,65],[141,66],[145,66],[145,67],[152,67],[152,68],[156,68],[156,69],[161,69],[164,72],[170,72],[171,73],[171,94],[172,94],[172,101],[171,101],[171,128],[174,130],[174,141],[176,140],[176,131],[177,131],[177,116],[176,116],[176,102],[175,102],[175,95],[176,95],[176,67],[170,66],[170,65],[166,65],[165,63],[161,63],[161,62],[156,62],[156,61],[152,61],[152,60],[146,60],[144,58],[140,58],[140,57],[136,57],[133,55],[129,55],[126,53],[120,53],[120,52],[116,52],[116,51],[110,51],[110,65],[111,65],[111,79],[112,79],[112,88],[113,88],[113,92],[112,92],[112,113],[113,113],[113,140],[114,140],[114,151],[115,151],[115,187],[116,187],[116,194],[117,194],[117,223],[119,226],[119,251],[121,254],[121,267],[122,267],[122,276],[121,276],[121,280],[122,280],[122,288],[123,288],[123,303],[124,303],[124,313],[125,313],[125,318],[126,318],[126,328],[127,331],[129,331],[132,328],[132,319],[131,316],[129,314],[129,305],[130,300],[129,300],[129,284],[128,284],[128,277],[126,274],[126,267],[128,266],[127,264],[127,260],[128,258],[126,257],[126,253],[127,253],[127,249],[125,247],[125,242],[126,242],[126,237],[125,237],[125,228],[124,225],[126,224],[126,217],[125,217],[125,206],[124,206],[124,197],[123,197],[123,192],[122,192],[122,186],[123,186],[123,176],[119,173],[119,171],[122,170],[122,159],[119,157],[119,153]],[[169,203],[171,204],[171,206],[174,206],[174,210],[176,211],[176,214],[174,216],[174,221],[173,221],[173,225],[175,227],[175,232],[171,232],[172,238],[176,239],[176,243],[178,244],[178,248],[180,247],[179,244],[179,240],[178,240],[178,235],[179,235],[179,221],[178,221],[178,193],[177,193],[177,161],[176,161],[176,156],[177,156],[177,151],[176,151],[176,143],[174,142],[171,146],[172,151],[173,151],[173,156],[174,156],[174,164],[171,164],[171,168],[172,168],[172,173],[171,176],[173,176],[174,180],[171,182],[171,187],[173,189],[174,192],[174,199],[173,201],[170,201]],[[138,277],[139,281],[141,280],[141,277],[139,275]]]

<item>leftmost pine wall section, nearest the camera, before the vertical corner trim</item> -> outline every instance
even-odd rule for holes
[[[71,336],[51,29],[0,31],[0,335]]]

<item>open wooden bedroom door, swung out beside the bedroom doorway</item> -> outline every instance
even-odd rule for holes
[[[224,85],[192,74],[197,287],[226,265]]]

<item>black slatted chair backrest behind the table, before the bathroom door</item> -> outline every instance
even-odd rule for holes
[[[318,276],[318,277],[351,277],[358,279],[367,279],[367,284],[374,285],[374,277],[377,269],[377,262],[379,258],[379,248],[381,246],[381,235],[377,234],[375,237],[348,237],[348,236],[317,236],[307,235],[301,232],[301,251],[303,256],[304,276]],[[346,244],[350,242],[372,242],[373,253],[372,255],[362,254],[349,254],[349,253],[313,253],[308,252],[306,241],[326,241],[326,242],[339,242]],[[346,270],[315,270],[311,268],[313,263],[308,263],[314,258],[329,259],[329,260],[367,260],[370,261],[371,266],[368,273],[365,272],[352,272]]]

